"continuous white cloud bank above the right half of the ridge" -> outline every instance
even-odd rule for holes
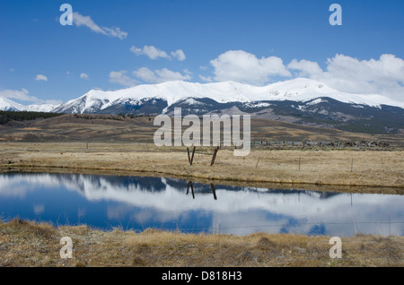
[[[285,65],[277,56],[261,57],[242,50],[231,50],[210,61],[213,77],[206,81],[235,81],[265,85],[273,77],[303,77],[324,82],[329,87],[360,94],[381,94],[404,99],[404,61],[384,54],[379,59],[359,60],[337,54],[328,58],[326,70],[317,62],[294,59]]]

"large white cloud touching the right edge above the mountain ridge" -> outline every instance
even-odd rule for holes
[[[393,55],[359,60],[337,54],[327,60],[326,71],[315,62],[294,59],[288,68],[299,71],[298,76],[324,82],[338,91],[381,94],[404,100],[404,61]]]

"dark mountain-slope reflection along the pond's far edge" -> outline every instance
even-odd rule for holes
[[[212,194],[212,187],[210,184],[202,184],[193,182],[192,180],[182,180],[176,178],[161,178],[161,177],[131,177],[131,176],[96,176],[84,174],[55,174],[57,180],[67,184],[74,184],[76,189],[85,193],[86,185],[90,183],[92,188],[98,188],[100,191],[104,188],[104,183],[107,182],[110,186],[116,187],[120,191],[132,192],[137,189],[142,192],[162,193],[167,190],[167,186],[177,189],[179,192],[188,193],[189,182],[192,183],[193,191],[195,194]],[[102,179],[100,179],[102,178]],[[318,199],[328,199],[329,197],[337,196],[340,193],[336,192],[322,192],[313,190],[300,190],[300,189],[275,189],[275,188],[260,188],[249,186],[228,186],[217,183],[212,183],[215,189],[233,191],[233,192],[257,192],[266,194],[305,194],[314,196]]]

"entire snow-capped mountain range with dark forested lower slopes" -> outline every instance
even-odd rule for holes
[[[0,101],[0,109],[27,110],[51,106]],[[324,126],[368,134],[404,134],[404,102],[382,95],[337,91],[310,79],[297,78],[267,86],[238,82],[163,82],[118,91],[89,91],[52,112],[104,115],[250,114],[255,118]]]

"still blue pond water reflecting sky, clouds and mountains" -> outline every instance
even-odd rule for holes
[[[204,185],[162,177],[7,173],[0,219],[248,235],[404,233],[404,195]]]

